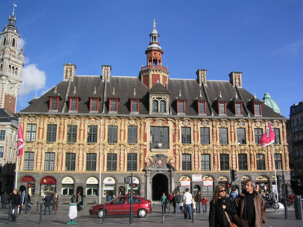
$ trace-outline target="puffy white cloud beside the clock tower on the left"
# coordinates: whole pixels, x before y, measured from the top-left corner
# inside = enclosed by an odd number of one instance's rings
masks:
[[[25,96],[32,91],[37,91],[45,87],[46,74],[39,70],[36,64],[29,64],[22,69],[22,83],[18,91],[18,96]]]

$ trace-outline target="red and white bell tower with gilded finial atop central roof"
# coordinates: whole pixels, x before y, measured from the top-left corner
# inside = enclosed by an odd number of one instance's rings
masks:
[[[168,83],[168,71],[167,67],[162,66],[162,48],[159,46],[159,34],[156,30],[156,21],[154,20],[154,29],[151,31],[150,43],[145,51],[147,55],[147,65],[141,67],[139,77],[142,83],[144,83],[149,89],[153,87],[157,81],[163,86]]]

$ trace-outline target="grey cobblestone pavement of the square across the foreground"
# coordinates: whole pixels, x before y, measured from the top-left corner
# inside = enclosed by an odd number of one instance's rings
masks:
[[[108,227],[117,226],[130,226],[129,215],[114,215],[107,216],[105,223],[102,224],[102,219],[97,218],[95,215],[89,215],[88,209],[90,206],[83,206],[83,211],[78,212],[78,216],[74,219],[77,222],[77,226],[86,227],[89,225],[104,225]],[[11,222],[12,226],[32,227],[33,225],[39,225],[40,221],[40,207],[39,214],[36,214],[37,206],[33,205],[32,209],[25,215],[25,210],[22,210],[22,214],[18,215],[17,222]],[[63,226],[69,222],[68,218],[68,205],[59,206],[59,212],[51,215],[42,215],[42,225],[44,226]],[[161,206],[158,203],[152,205],[152,213],[147,215],[145,218],[139,218],[137,215],[133,216],[134,227],[142,227],[142,225],[158,227],[158,226],[173,226],[173,227],[184,227],[190,225],[192,227],[208,227],[208,213],[201,213],[194,215],[194,222],[190,219],[184,219],[183,214],[174,214],[171,208],[171,213],[166,212],[164,217],[164,223],[162,222]],[[44,207],[43,212],[44,214]],[[0,210],[0,224],[8,223],[8,210]],[[268,209],[266,212],[266,223],[263,227],[298,227],[303,224],[302,220],[295,219],[294,207],[288,208],[288,220],[285,220],[285,210],[279,209]]]

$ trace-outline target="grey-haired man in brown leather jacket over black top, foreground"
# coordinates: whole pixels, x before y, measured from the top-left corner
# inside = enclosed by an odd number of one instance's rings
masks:
[[[255,182],[247,179],[245,189],[234,200],[237,209],[234,220],[239,227],[262,227],[262,223],[265,223],[265,203],[255,189]]]

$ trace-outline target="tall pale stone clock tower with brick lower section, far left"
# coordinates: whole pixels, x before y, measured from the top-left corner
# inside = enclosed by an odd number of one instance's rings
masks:
[[[0,33],[0,108],[13,113],[16,112],[17,93],[22,82],[24,58],[23,48],[18,50],[20,35],[15,23],[13,10],[12,16],[8,17],[8,25]]]

